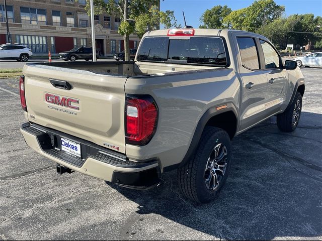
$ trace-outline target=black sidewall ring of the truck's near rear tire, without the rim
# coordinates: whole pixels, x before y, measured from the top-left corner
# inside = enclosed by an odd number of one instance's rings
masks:
[[[217,135],[213,135],[211,138],[209,138],[209,140],[206,142],[204,147],[201,148],[201,150],[200,150],[202,153],[201,153],[201,156],[199,159],[199,167],[198,167],[197,177],[196,177],[196,186],[197,186],[197,196],[201,202],[210,202],[211,200],[213,200],[216,197],[216,195],[220,192],[221,188],[224,186],[225,181],[228,176],[228,173],[229,173],[229,170],[230,170],[231,143],[230,143],[229,136],[223,130],[220,130],[220,131],[216,132],[215,134],[217,134]],[[215,190],[211,191],[211,190],[207,189],[206,184],[205,184],[205,169],[206,169],[206,165],[208,162],[208,158],[209,158],[212,150],[219,143],[225,145],[227,148],[227,156],[226,156],[227,166],[226,166],[226,170],[225,170],[225,175],[221,179],[219,186]]]

